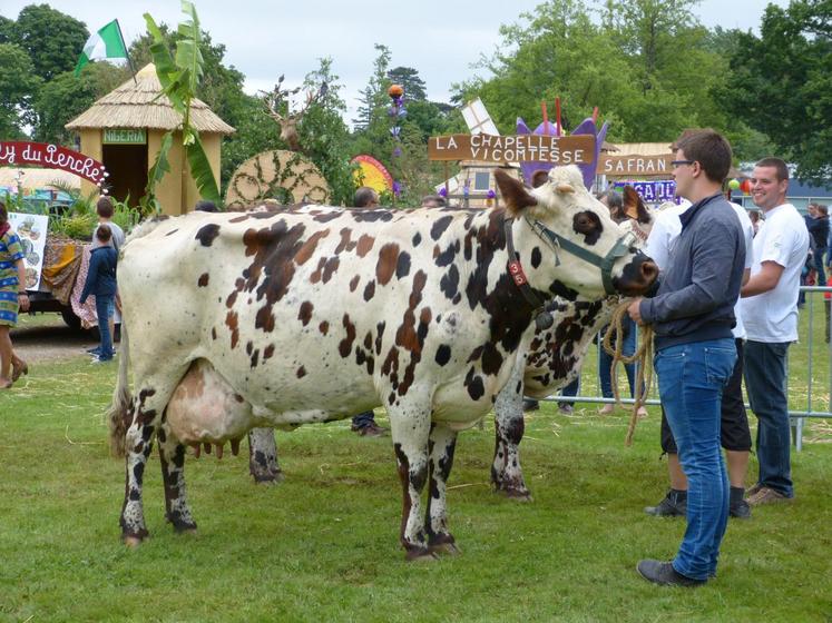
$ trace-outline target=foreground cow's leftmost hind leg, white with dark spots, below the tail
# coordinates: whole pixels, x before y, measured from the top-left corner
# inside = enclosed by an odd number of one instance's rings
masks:
[[[125,434],[125,502],[121,506],[121,538],[125,544],[135,546],[148,535],[145,526],[145,511],[141,503],[141,485],[145,477],[145,466],[153,449],[153,438],[156,432],[157,411],[151,398],[155,390],[143,389],[133,398],[127,416],[130,425]]]

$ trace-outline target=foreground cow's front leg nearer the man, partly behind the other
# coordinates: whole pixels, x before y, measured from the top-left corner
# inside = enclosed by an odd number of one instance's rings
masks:
[[[428,488],[428,548],[431,552],[458,554],[453,536],[448,532],[448,505],[446,491],[448,476],[453,466],[457,432],[443,424],[433,424],[430,429],[430,486]]]

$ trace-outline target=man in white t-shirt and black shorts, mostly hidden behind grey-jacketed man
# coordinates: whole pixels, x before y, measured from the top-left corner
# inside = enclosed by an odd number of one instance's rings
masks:
[[[647,238],[644,253],[653,258],[659,270],[664,270],[669,264],[674,241],[682,233],[679,216],[688,207],[691,207],[691,202],[686,200],[678,206],[664,207],[659,210],[653,224],[653,230]],[[734,212],[740,219],[745,240],[745,270],[743,273],[743,283],[745,283],[748,279],[752,264],[751,249],[754,239],[754,226],[742,206],[731,204],[731,207],[734,208]],[[736,347],[736,364],[722,394],[721,443],[727,458],[728,483],[731,485],[728,514],[732,517],[748,518],[751,508],[747,502],[743,500],[743,495],[745,494],[745,475],[748,471],[751,454],[751,432],[748,431],[748,416],[743,403],[743,340],[745,339],[745,329],[740,305],[740,299],[737,299],[734,306],[736,326],[732,329]],[[662,409],[660,442],[662,451],[667,454],[671,491],[656,506],[647,506],[644,511],[648,515],[657,517],[685,516],[687,512],[687,477],[679,464],[678,449],[664,409]]]

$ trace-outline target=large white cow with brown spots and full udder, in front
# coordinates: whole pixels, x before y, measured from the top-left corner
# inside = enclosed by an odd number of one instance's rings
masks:
[[[638,294],[657,274],[576,167],[534,190],[498,182],[505,209],[203,212],[140,228],[120,263],[128,340],[110,409],[125,542],[147,535],[154,439],[167,520],[193,531],[185,444],[381,403],[407,557],[456,551],[444,498],[457,432],[492,407],[538,309],[556,295]],[[205,426],[188,424],[197,415]]]

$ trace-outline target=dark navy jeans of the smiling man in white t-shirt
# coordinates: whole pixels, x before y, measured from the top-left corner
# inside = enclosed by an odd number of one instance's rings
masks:
[[[791,429],[785,389],[789,343],[745,343],[745,390],[757,416],[757,459],[761,485],[794,497]]]

